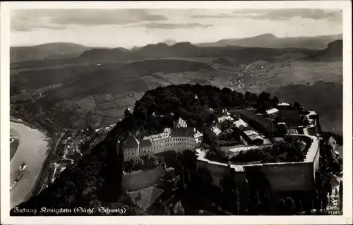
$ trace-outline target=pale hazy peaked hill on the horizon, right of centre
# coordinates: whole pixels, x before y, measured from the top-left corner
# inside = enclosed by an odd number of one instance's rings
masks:
[[[258,35],[240,39],[221,39],[217,42],[198,43],[198,47],[225,47],[236,45],[242,47],[263,48],[302,48],[302,49],[324,49],[328,43],[342,39],[341,35],[328,35],[316,37],[276,37],[273,34]]]

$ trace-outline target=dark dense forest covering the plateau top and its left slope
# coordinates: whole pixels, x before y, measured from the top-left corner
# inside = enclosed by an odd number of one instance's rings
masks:
[[[205,126],[212,123],[215,118],[214,113],[205,110],[209,108],[266,109],[272,107],[275,102],[278,102],[278,99],[264,92],[260,95],[250,92],[243,94],[228,88],[221,90],[210,85],[170,85],[150,90],[136,102],[133,114],[127,114],[126,118],[116,123],[107,138],[88,151],[89,154],[79,159],[76,166],[65,169],[59,178],[56,178],[54,183],[51,183],[42,193],[31,197],[18,207],[26,209],[40,209],[41,207],[112,208],[128,205],[126,214],[144,214],[145,212],[131,202],[124,192],[121,195],[123,162],[116,151],[118,141],[124,142],[130,133],[136,135],[155,133],[172,126],[179,117],[184,118],[189,126],[204,130]],[[171,112],[173,114],[170,114]],[[153,113],[167,116],[153,117]],[[148,164],[156,163],[154,157],[150,157],[149,162]],[[14,214],[13,209],[11,214]]]

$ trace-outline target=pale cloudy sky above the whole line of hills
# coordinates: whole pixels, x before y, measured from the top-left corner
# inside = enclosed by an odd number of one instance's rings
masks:
[[[143,46],[172,39],[214,42],[272,33],[277,37],[342,33],[333,9],[16,9],[11,46],[74,42],[89,47]]]

